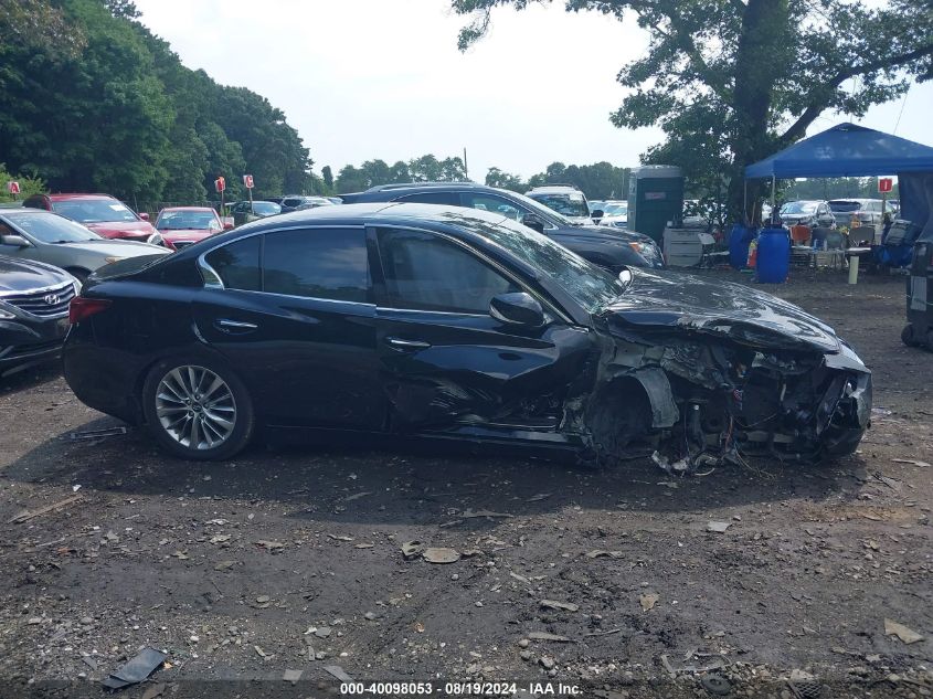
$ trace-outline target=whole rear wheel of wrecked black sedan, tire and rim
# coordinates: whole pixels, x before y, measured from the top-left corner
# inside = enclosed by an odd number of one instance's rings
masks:
[[[187,459],[230,458],[246,447],[255,427],[243,382],[200,358],[157,363],[142,386],[142,410],[159,445]]]

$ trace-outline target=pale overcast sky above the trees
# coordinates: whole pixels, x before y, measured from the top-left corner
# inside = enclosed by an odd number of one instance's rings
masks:
[[[491,33],[457,51],[466,18],[447,0],[136,0],[142,22],[182,63],[245,86],[283,109],[314,169],[467,149],[470,177],[489,167],[529,177],[550,162],[637,166],[658,129],[617,129],[615,82],[647,36],[634,22],[563,2],[494,12]],[[925,144],[933,84],[858,123]],[[820,131],[846,119],[825,114]]]

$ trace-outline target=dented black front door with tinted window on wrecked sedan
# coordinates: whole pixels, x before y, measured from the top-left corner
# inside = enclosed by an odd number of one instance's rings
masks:
[[[456,241],[401,229],[378,240],[377,343],[392,427],[555,430],[592,357],[590,332],[494,319],[492,296],[524,289]]]

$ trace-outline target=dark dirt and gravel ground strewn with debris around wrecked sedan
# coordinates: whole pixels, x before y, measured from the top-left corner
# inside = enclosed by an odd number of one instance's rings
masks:
[[[72,439],[119,423],[54,368],[8,379],[0,697],[104,696],[146,646],[168,661],[126,696],[325,696],[339,666],[434,696],[485,679],[616,699],[929,697],[933,354],[899,340],[903,288],[805,273],[768,289],[874,372],[860,452],[821,466],[671,479],[647,462],[365,445],[192,464],[136,430]],[[462,558],[406,560],[410,541]]]

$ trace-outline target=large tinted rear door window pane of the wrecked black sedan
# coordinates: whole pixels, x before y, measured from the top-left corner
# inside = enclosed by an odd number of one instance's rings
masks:
[[[269,294],[368,303],[364,229],[301,229],[267,233],[263,290]]]

